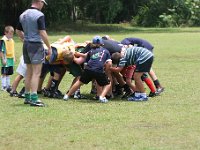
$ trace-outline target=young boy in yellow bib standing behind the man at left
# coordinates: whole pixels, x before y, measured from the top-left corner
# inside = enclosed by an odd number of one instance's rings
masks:
[[[15,62],[15,47],[14,47],[14,28],[6,26],[4,36],[0,41],[0,58],[1,58],[1,86],[2,90],[10,92],[10,75],[13,74]]]

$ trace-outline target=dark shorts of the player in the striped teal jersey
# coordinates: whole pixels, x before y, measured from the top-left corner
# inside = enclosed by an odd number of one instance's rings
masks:
[[[135,72],[150,72],[153,56],[142,64],[136,64]]]

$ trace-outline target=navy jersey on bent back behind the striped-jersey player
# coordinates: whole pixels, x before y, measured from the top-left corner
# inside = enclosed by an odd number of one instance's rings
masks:
[[[121,41],[123,45],[134,45],[138,47],[144,47],[150,51],[153,51],[153,45],[151,45],[148,41],[140,39],[140,38],[125,38]]]

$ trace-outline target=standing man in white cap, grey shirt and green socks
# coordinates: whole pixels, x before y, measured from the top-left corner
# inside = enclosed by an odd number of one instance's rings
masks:
[[[39,76],[45,58],[43,42],[48,47],[48,55],[52,53],[46,33],[45,17],[41,12],[44,4],[47,5],[45,0],[32,0],[31,8],[20,15],[16,29],[17,35],[24,42],[23,57],[24,63],[27,65],[24,104],[38,107],[45,106],[38,99],[37,94]]]

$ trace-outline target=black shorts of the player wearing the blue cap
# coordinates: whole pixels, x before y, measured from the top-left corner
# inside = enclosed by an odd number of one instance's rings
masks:
[[[99,73],[90,70],[84,70],[83,74],[81,75],[80,81],[84,84],[88,84],[93,79],[95,79],[100,86],[105,86],[110,83],[105,73]]]

